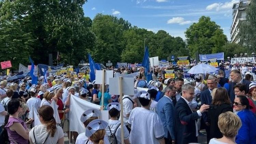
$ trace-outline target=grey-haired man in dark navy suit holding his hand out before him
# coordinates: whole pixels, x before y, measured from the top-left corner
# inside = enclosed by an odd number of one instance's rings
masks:
[[[176,144],[197,142],[197,119],[210,107],[209,105],[203,104],[199,110],[193,112],[188,103],[193,100],[194,94],[194,86],[190,84],[182,86],[182,97],[177,101],[174,109]]]

